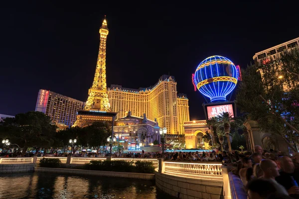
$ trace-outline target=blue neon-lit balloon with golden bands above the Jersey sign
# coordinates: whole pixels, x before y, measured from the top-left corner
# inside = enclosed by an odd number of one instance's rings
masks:
[[[194,86],[211,102],[226,101],[238,82],[237,68],[222,56],[211,56],[200,62],[193,76]]]

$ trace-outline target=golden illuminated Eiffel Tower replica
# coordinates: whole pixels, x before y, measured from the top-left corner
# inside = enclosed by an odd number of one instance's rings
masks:
[[[95,121],[112,121],[115,112],[110,112],[110,103],[106,84],[106,41],[109,33],[105,19],[100,28],[100,48],[97,68],[92,87],[88,90],[88,99],[83,110],[78,110],[77,120],[72,127],[84,127]]]

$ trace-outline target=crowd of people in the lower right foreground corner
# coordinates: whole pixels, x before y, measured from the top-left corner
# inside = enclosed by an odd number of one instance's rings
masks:
[[[233,172],[250,199],[299,199],[299,153],[291,158],[275,151],[265,153],[261,146],[255,146],[253,154],[237,158],[238,169]]]

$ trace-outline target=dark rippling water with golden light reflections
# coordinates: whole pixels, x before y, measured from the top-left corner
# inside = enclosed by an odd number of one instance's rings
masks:
[[[172,199],[147,180],[53,173],[0,176],[0,199]]]

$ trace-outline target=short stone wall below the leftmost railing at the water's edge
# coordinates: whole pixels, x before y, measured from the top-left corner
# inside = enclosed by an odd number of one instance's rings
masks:
[[[0,164],[0,174],[33,172],[35,164]]]

